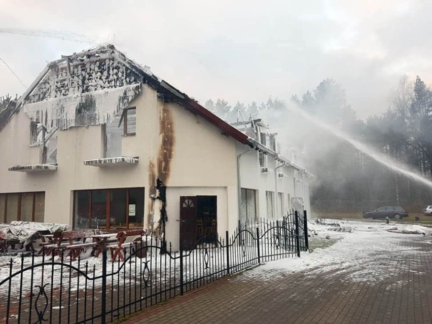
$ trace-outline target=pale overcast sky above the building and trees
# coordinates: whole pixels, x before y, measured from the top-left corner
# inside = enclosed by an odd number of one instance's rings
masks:
[[[402,76],[432,83],[430,12],[427,0],[0,0],[0,96],[61,55],[113,43],[201,103],[289,100],[332,78],[366,119]]]

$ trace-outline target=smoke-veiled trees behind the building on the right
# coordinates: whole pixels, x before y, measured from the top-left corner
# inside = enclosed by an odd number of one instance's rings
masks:
[[[420,212],[424,205],[432,204],[432,188],[377,163],[316,123],[295,116],[292,105],[430,179],[432,88],[420,77],[415,81],[402,78],[385,113],[365,121],[357,118],[345,90],[331,79],[300,97],[292,96],[290,102],[270,98],[260,104],[238,101],[230,106],[226,100],[217,99],[207,100],[205,106],[229,122],[263,117],[272,129],[276,127],[285,149],[300,148],[304,152],[302,163],[316,176],[311,184],[311,203],[316,211],[359,212],[402,205]]]

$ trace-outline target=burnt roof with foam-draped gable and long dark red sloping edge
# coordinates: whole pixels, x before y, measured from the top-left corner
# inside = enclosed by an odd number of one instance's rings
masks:
[[[266,151],[278,161],[308,173],[209,112],[194,99],[158,78],[149,67],[142,67],[127,58],[114,45],[62,56],[48,63],[24,94],[0,112],[0,131],[21,109],[33,122],[45,126],[49,138],[54,139],[56,136],[53,133],[58,129],[110,123],[141,91],[141,84],[154,88],[160,99],[181,104],[201,116],[217,126],[224,135],[251,148]]]

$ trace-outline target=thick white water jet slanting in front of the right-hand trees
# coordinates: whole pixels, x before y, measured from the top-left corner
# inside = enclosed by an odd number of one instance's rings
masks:
[[[293,106],[293,105],[289,105],[287,106],[287,109],[289,109],[290,111],[300,115],[301,117],[305,118],[306,120],[310,121],[311,123],[313,123],[314,125],[318,126],[319,128],[328,131],[329,133],[339,137],[340,139],[343,139],[347,142],[349,142],[354,148],[356,148],[358,151],[363,152],[364,154],[368,155],[369,157],[371,157],[372,159],[374,159],[376,162],[388,167],[389,169],[401,173],[407,177],[410,177],[412,179],[414,179],[415,181],[428,186],[429,188],[432,188],[432,182],[429,181],[428,179],[422,177],[421,175],[412,172],[410,170],[408,170],[408,168],[402,164],[399,163],[395,163],[394,161],[392,161],[391,159],[389,159],[387,156],[385,156],[382,153],[376,152],[373,149],[369,148],[367,145],[365,145],[362,142],[359,142],[353,138],[351,138],[347,133],[340,131],[338,129],[335,129],[334,127],[332,127],[329,124],[326,124],[325,122],[323,122],[322,120],[317,120],[315,119],[312,115],[304,112],[303,110]]]

